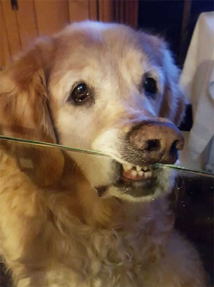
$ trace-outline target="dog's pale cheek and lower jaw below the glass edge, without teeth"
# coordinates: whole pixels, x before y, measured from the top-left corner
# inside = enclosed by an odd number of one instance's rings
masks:
[[[152,176],[147,179],[126,179],[118,160],[79,153],[68,154],[76,161],[90,186],[103,198],[114,196],[132,202],[143,202],[171,191],[174,173],[169,169],[155,168]]]

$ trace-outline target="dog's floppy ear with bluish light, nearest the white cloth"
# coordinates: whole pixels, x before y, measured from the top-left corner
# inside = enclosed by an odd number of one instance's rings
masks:
[[[160,117],[168,118],[179,126],[185,115],[186,100],[179,87],[180,70],[175,66],[170,51],[163,43],[163,70],[165,75],[165,88],[160,108]]]

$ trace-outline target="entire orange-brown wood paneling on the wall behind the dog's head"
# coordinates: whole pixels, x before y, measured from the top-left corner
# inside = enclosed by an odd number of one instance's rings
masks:
[[[52,35],[86,19],[137,26],[137,0],[9,0],[1,3],[1,67],[37,36]]]

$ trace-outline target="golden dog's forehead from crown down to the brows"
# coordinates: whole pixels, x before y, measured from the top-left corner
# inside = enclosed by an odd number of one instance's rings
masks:
[[[69,25],[55,40],[49,78],[52,89],[60,85],[68,93],[75,83],[83,81],[108,93],[124,93],[138,89],[147,72],[158,78],[159,39],[130,27],[80,22]]]

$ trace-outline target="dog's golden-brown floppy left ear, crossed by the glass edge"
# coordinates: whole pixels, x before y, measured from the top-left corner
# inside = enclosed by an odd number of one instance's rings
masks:
[[[39,40],[2,71],[1,134],[57,142],[46,89],[53,53],[51,39]],[[59,149],[15,143],[9,151],[20,169],[39,186],[53,185],[62,174],[64,157]]]

